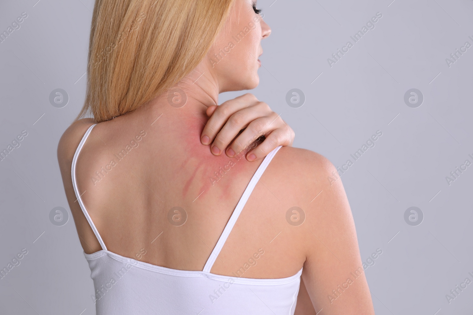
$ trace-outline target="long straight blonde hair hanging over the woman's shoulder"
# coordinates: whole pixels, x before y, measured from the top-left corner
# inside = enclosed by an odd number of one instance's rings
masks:
[[[77,119],[110,120],[165,93],[205,57],[234,1],[96,0]]]

